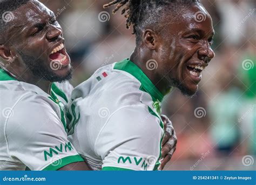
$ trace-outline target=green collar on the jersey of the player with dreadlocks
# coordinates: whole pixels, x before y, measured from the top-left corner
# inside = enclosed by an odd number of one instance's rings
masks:
[[[156,86],[152,83],[152,81],[149,79],[149,77],[146,76],[146,74],[131,60],[125,59],[119,63],[114,64],[114,69],[116,70],[122,70],[127,73],[130,73],[132,76],[134,76],[137,80],[142,83],[142,86],[140,87],[140,90],[145,91],[149,93],[153,99],[153,101],[162,101],[164,98],[164,95],[158,90]]]

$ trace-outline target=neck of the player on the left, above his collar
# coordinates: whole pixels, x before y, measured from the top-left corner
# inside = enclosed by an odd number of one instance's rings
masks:
[[[9,74],[16,78],[18,81],[24,81],[25,83],[36,85],[44,92],[48,94],[51,93],[52,83],[50,81],[46,81],[42,78],[34,76],[29,70],[20,70],[19,68],[12,70],[12,68],[7,68],[6,71],[8,71]]]

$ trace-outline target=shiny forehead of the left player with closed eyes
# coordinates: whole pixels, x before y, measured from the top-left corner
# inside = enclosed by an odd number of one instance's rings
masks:
[[[38,1],[31,1],[17,8],[14,15],[14,24],[29,24],[38,19],[48,19],[53,12]]]

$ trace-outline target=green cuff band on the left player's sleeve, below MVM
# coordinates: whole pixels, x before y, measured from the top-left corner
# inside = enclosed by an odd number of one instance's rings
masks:
[[[80,155],[71,155],[71,156],[67,156],[62,159],[59,159],[57,161],[54,161],[53,163],[51,163],[49,166],[47,166],[43,170],[44,171],[45,170],[58,170],[59,168],[69,165],[70,163],[82,162],[82,161],[84,161],[84,160]]]

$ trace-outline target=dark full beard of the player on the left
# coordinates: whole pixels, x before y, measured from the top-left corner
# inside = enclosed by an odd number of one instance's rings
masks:
[[[54,70],[51,69],[50,64],[49,66],[45,65],[42,59],[36,59],[34,57],[27,56],[22,52],[19,54],[21,54],[24,63],[36,77],[50,81],[51,83],[62,83],[63,81],[70,80],[72,78],[72,67],[70,68],[69,72],[65,74],[65,76],[59,76],[54,72]]]

